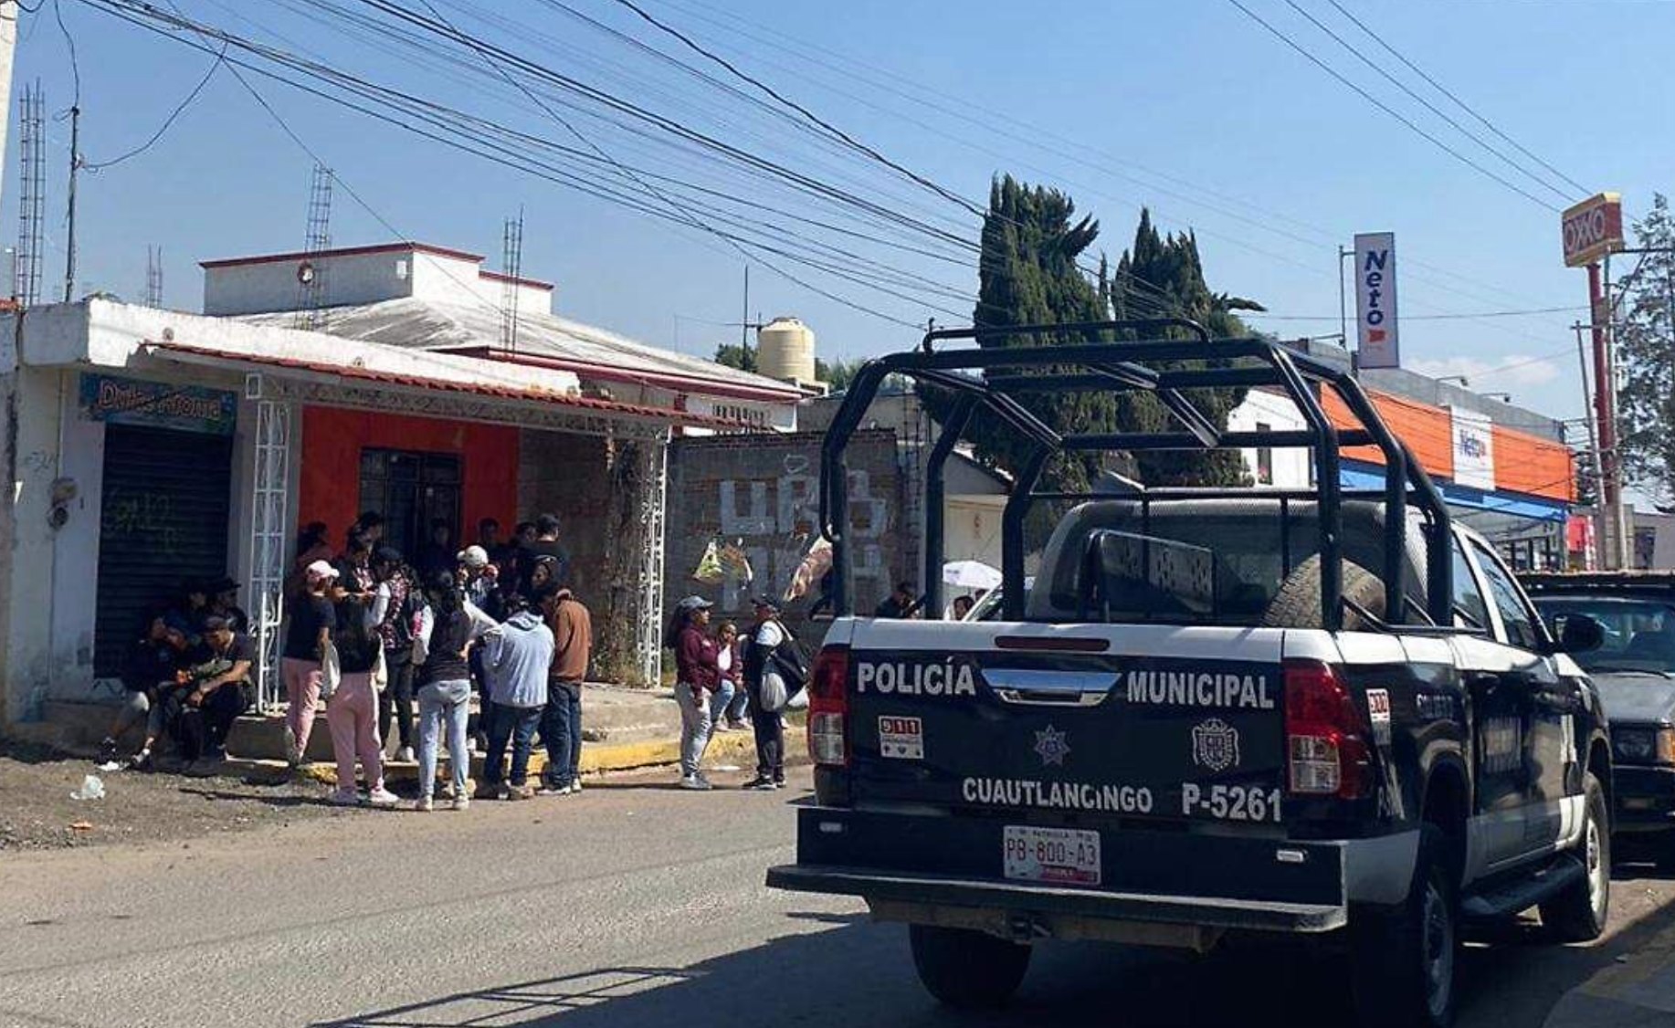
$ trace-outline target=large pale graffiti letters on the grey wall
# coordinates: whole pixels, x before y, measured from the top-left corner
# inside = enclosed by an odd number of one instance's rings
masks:
[[[720,479],[717,487],[720,534],[742,542],[755,573],[755,581],[745,581],[729,571],[722,583],[722,609],[737,611],[749,606],[752,591],[784,593],[819,527],[819,481],[807,455],[787,454],[774,479]],[[889,504],[873,496],[864,469],[849,472],[849,519],[856,589],[864,596],[863,583],[873,583],[883,594],[889,581],[883,551]]]

